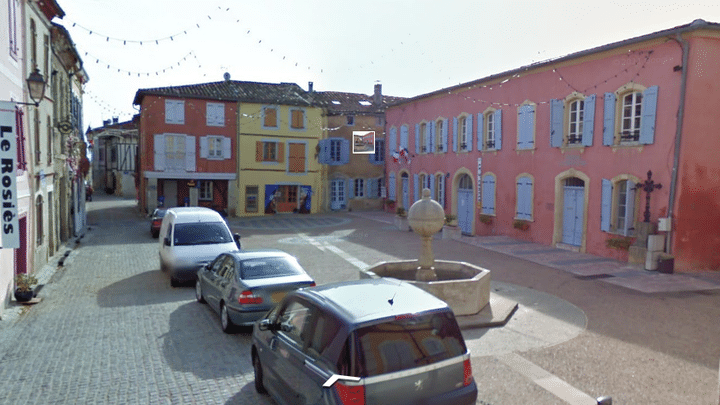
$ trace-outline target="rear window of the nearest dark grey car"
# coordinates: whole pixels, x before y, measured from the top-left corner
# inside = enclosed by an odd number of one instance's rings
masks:
[[[407,370],[460,356],[467,352],[450,311],[401,315],[356,332],[359,376]]]

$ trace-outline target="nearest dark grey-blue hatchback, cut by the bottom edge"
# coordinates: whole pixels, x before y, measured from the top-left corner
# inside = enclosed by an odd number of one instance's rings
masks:
[[[288,294],[255,323],[255,388],[280,404],[474,404],[448,305],[395,279]]]

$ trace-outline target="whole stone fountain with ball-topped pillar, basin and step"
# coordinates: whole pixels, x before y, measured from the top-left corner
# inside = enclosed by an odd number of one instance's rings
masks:
[[[494,326],[507,322],[517,303],[501,297],[491,299],[490,270],[466,262],[435,260],[432,239],[443,227],[445,212],[430,198],[430,189],[423,189],[422,199],[410,207],[408,221],[422,241],[420,258],[381,262],[361,270],[360,277],[392,277],[419,287],[445,301],[461,326]],[[461,318],[472,318],[472,321],[463,322]]]

